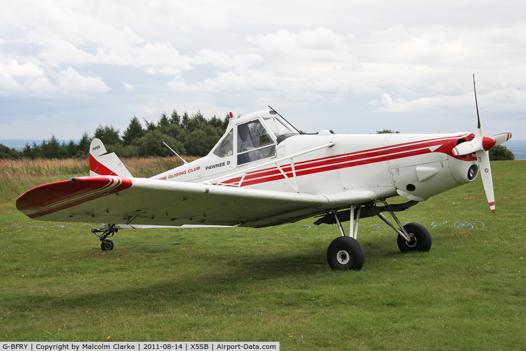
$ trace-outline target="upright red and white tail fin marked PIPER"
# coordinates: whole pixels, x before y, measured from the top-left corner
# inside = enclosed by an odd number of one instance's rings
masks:
[[[104,144],[97,138],[89,145],[89,175],[116,175],[133,177],[115,153],[107,154]]]

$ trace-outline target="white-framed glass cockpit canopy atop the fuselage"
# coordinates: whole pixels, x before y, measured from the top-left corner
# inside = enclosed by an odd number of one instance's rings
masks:
[[[219,157],[237,155],[237,165],[275,156],[276,145],[299,132],[273,110],[230,118],[227,133],[213,148]]]

